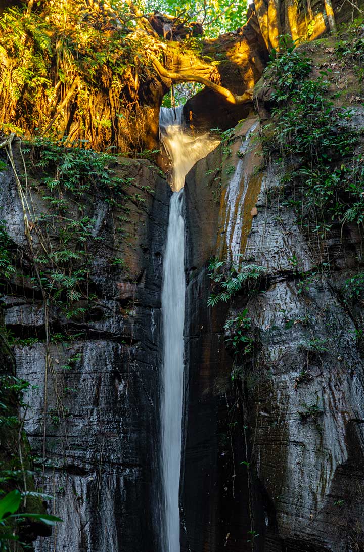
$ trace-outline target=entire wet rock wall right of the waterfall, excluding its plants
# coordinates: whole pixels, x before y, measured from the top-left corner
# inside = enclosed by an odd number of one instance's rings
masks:
[[[252,530],[264,552],[360,550],[362,309],[347,309],[341,289],[361,237],[356,226],[334,225],[324,242],[305,232],[282,205],[281,174],[260,167],[254,132],[243,146],[253,127],[246,121],[228,154],[219,146],[186,179],[182,550],[251,550]],[[207,307],[209,258],[239,254],[266,277],[230,307]],[[223,326],[245,308],[256,346],[231,383]]]

